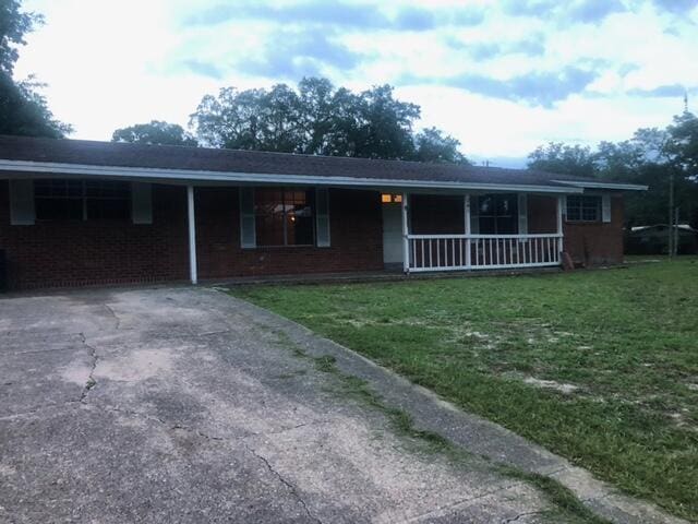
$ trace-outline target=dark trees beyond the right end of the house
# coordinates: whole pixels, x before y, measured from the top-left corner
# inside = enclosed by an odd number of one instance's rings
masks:
[[[622,142],[588,146],[550,143],[529,155],[530,168],[649,186],[628,194],[628,226],[669,222],[669,180],[674,175],[679,222],[698,227],[698,118],[684,111],[665,129],[638,129]]]

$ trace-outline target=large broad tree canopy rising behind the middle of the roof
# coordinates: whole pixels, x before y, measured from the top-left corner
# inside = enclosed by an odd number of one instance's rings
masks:
[[[206,95],[190,126],[202,145],[241,150],[466,163],[460,143],[432,128],[414,133],[416,104],[389,85],[361,93],[306,78],[293,90],[224,87]]]

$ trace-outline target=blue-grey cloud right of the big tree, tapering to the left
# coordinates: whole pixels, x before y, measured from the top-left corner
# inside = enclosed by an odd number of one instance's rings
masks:
[[[438,83],[491,98],[525,102],[531,106],[552,107],[569,95],[581,93],[599,74],[574,66],[559,71],[532,71],[509,79],[494,79],[462,73],[443,79],[404,78],[407,83]]]

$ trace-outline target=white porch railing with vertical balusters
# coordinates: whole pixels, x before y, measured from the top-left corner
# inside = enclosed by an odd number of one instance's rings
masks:
[[[561,264],[563,235],[407,235],[409,272]]]

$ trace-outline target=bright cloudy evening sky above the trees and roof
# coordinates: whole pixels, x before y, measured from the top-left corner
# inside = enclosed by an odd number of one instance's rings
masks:
[[[25,0],[15,69],[71,138],[186,126],[205,94],[320,75],[388,83],[476,162],[593,146],[698,112],[698,0]]]

